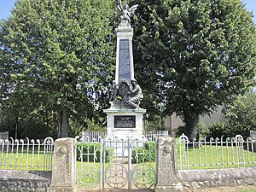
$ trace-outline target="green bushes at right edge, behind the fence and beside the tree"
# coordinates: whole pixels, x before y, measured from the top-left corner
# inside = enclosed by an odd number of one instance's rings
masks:
[[[220,138],[249,137],[250,131],[256,130],[256,92],[249,91],[244,96],[237,96],[233,102],[223,109],[220,122],[212,125],[202,125],[201,136]]]

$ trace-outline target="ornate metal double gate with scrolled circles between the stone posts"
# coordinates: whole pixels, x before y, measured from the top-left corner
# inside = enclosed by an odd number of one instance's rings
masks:
[[[152,189],[155,183],[155,143],[146,138],[76,138],[76,182],[81,190]]]

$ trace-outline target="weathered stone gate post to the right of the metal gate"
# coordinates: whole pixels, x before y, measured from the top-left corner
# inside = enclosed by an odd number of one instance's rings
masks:
[[[183,191],[177,174],[175,138],[158,138],[156,174],[155,192]]]

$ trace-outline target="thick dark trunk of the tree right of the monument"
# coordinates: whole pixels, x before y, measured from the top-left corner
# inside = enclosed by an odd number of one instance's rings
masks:
[[[189,137],[189,141],[193,141],[194,138],[198,140],[199,138],[199,115],[192,117],[189,114],[184,113],[184,123],[186,125],[186,136]]]

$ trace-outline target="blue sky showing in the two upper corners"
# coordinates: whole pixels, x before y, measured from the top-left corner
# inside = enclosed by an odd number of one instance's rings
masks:
[[[15,8],[16,0],[0,0],[0,20],[7,19],[11,14],[10,10]],[[253,11],[253,15],[256,15],[256,0],[242,0],[243,3],[246,3],[246,8],[249,11]],[[254,23],[256,24],[256,16],[253,18]]]

